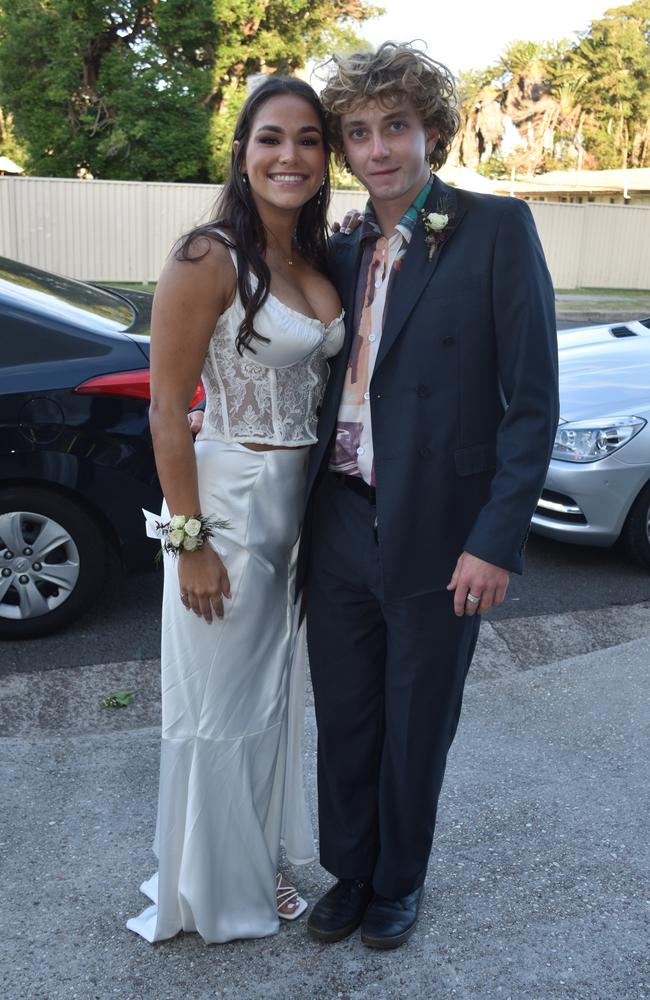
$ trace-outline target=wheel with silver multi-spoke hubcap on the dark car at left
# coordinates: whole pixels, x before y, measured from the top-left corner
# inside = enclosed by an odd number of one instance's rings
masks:
[[[73,500],[47,490],[0,491],[0,636],[29,639],[69,625],[106,576],[102,532]]]

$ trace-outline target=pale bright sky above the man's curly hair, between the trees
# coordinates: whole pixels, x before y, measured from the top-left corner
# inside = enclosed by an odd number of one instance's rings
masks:
[[[585,31],[611,7],[625,0],[375,0],[386,14],[360,33],[373,45],[423,39],[427,52],[454,73],[483,69],[495,62],[508,42],[559,41]]]

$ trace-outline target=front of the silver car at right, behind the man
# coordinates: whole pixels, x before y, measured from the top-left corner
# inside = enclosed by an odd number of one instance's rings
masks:
[[[650,319],[563,330],[558,346],[561,419],[533,531],[622,536],[650,568]]]

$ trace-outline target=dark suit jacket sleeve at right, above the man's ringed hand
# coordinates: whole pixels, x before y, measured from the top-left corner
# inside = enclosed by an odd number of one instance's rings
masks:
[[[553,285],[523,201],[508,199],[492,266],[493,324],[506,410],[497,432],[490,495],[465,549],[520,573],[559,419]]]

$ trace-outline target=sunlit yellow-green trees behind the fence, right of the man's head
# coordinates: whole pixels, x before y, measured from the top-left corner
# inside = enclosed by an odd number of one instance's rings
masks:
[[[498,174],[650,166],[650,0],[613,7],[575,42],[512,42],[463,74],[458,162]]]

